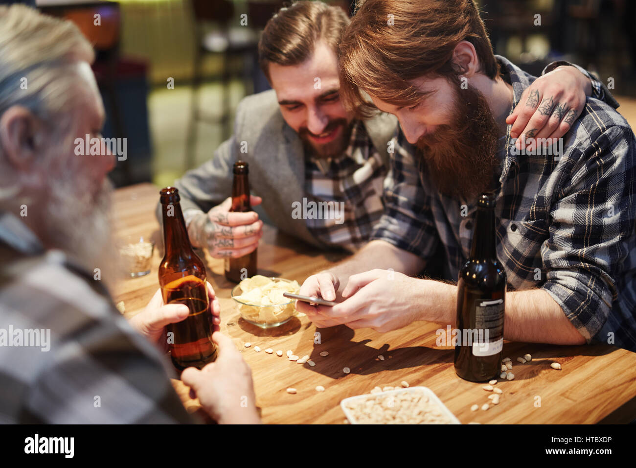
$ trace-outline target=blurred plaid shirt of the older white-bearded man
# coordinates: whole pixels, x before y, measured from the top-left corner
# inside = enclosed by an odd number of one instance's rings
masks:
[[[45,252],[10,213],[0,212],[0,254],[0,333],[15,343],[11,331],[50,330],[48,351],[0,342],[0,423],[193,422],[165,357],[92,274]]]

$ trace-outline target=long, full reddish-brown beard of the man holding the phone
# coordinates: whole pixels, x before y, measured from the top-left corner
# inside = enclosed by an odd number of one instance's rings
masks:
[[[417,147],[424,170],[439,192],[473,201],[494,188],[499,131],[483,94],[471,86],[460,89],[459,80],[456,84],[453,124],[440,125],[422,136]]]

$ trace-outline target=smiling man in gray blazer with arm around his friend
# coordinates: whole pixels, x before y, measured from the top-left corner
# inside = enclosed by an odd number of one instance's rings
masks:
[[[258,214],[229,213],[237,160],[249,163],[252,194],[260,195],[252,195],[252,206],[261,204],[278,229],[322,249],[354,252],[368,241],[384,210],[397,121],[388,114],[356,120],[340,102],[337,51],[348,24],[341,8],[319,1],[298,1],[268,22],[259,61],[273,90],[245,97],[232,138],[174,184],[193,245],[216,258],[241,257],[258,246]],[[533,86],[570,107],[591,92],[602,99],[600,83],[583,73],[560,67]],[[515,127],[536,121],[535,111],[520,113]]]

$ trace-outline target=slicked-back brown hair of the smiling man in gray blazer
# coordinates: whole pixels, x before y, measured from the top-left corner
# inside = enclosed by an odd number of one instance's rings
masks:
[[[298,65],[314,52],[321,39],[338,53],[338,44],[349,25],[347,13],[339,6],[321,1],[301,0],[284,7],[265,26],[258,43],[259,66],[270,80],[270,63]]]

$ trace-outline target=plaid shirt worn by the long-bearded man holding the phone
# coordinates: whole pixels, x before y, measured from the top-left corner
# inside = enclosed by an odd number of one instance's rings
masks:
[[[516,106],[535,78],[497,59]],[[632,129],[610,106],[588,98],[563,138],[560,157],[515,155],[509,141],[496,191],[497,256],[510,290],[542,288],[588,343],[636,351]],[[439,194],[421,162],[398,131],[387,208],[371,238],[422,259],[441,248],[446,274],[456,280],[469,255],[476,204]]]

